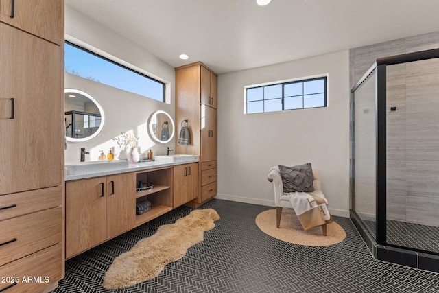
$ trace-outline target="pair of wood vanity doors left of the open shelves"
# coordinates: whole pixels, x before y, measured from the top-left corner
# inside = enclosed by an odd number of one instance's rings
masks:
[[[135,174],[66,183],[66,258],[134,228]]]

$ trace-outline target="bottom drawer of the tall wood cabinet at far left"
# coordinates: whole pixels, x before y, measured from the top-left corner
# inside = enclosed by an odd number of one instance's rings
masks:
[[[61,251],[61,244],[56,244],[0,266],[0,276],[5,278],[5,282],[7,281],[7,283],[0,282],[0,292],[34,293],[43,292],[49,286],[53,287],[56,281],[64,277]]]

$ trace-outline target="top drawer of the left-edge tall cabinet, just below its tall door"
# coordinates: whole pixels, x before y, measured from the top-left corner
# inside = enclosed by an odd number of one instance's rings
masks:
[[[62,186],[0,196],[0,221],[51,207],[59,207],[61,199]]]

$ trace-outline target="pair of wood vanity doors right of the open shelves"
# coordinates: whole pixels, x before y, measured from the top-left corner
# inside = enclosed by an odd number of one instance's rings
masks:
[[[198,197],[198,163],[174,167],[174,208]]]

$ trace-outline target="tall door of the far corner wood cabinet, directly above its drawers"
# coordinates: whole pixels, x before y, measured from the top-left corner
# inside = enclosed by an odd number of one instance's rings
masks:
[[[201,155],[200,161],[217,159],[217,110],[201,105]]]

